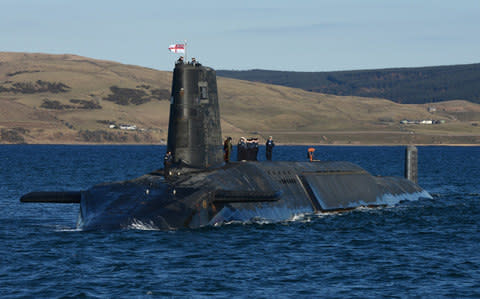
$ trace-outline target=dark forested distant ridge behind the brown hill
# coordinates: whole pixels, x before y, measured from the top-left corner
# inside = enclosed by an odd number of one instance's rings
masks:
[[[403,104],[480,103],[480,64],[342,72],[218,71],[219,76]]]

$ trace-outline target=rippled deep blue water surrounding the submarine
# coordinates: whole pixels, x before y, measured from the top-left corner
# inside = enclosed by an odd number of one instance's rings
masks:
[[[419,147],[431,200],[285,223],[76,231],[76,205],[21,204],[162,164],[162,146],[0,146],[2,298],[480,298],[480,147]],[[402,147],[318,147],[322,160],[403,173]],[[264,149],[260,150],[263,158]],[[305,160],[276,147],[274,160]]]

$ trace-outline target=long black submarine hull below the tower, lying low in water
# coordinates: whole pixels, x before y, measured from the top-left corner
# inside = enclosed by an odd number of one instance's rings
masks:
[[[187,173],[184,173],[186,171]],[[172,230],[429,198],[413,182],[374,177],[349,162],[236,162],[210,171],[176,169],[82,193],[78,228]]]

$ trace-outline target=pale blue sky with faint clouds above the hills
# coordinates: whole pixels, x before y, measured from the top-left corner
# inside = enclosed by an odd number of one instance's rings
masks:
[[[172,70],[336,71],[480,62],[479,0],[0,0],[0,51]]]

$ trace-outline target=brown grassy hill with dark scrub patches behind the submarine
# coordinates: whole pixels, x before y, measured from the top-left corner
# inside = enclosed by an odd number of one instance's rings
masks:
[[[170,85],[170,72],[149,68],[76,55],[0,53],[0,142],[164,143]],[[480,105],[465,101],[401,105],[221,77],[218,88],[223,133],[234,139],[480,143]],[[400,124],[403,119],[445,123]],[[121,124],[137,129],[118,129]]]

